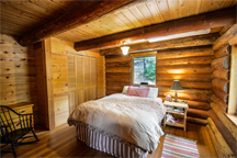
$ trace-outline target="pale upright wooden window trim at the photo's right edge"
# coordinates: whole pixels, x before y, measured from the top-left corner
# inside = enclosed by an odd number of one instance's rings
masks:
[[[228,113],[237,113],[237,45],[232,46]]]

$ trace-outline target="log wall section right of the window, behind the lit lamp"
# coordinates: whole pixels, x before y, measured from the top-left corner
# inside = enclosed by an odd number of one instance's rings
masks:
[[[170,90],[173,80],[180,80],[183,88],[177,91],[178,99],[188,101],[188,121],[195,122],[200,119],[204,124],[207,111],[211,109],[212,72],[214,59],[212,47],[187,47],[157,53],[157,87],[159,98],[165,100],[167,94],[174,98]]]

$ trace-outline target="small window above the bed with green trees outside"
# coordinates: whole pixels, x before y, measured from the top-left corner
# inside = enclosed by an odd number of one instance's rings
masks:
[[[156,56],[133,58],[133,83],[156,84]]]

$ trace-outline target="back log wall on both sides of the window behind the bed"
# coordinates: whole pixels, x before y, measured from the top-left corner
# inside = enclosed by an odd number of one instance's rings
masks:
[[[157,53],[157,81],[159,98],[167,94],[174,98],[170,90],[172,81],[179,79],[183,88],[178,91],[179,100],[188,101],[190,122],[206,124],[207,111],[212,102],[212,79],[214,59],[212,47],[187,47]],[[105,56],[106,94],[121,93],[123,86],[132,84],[132,57]],[[196,121],[196,119],[200,119]]]

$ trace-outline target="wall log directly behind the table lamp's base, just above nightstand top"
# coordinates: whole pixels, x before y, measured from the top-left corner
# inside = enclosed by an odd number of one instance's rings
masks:
[[[158,97],[162,98],[167,94],[170,94],[172,98],[174,98],[174,91],[173,92],[160,92],[158,93]],[[192,100],[192,101],[201,101],[201,102],[212,102],[211,95],[206,95],[203,93],[179,93],[177,91],[178,99],[184,99],[184,100]]]

